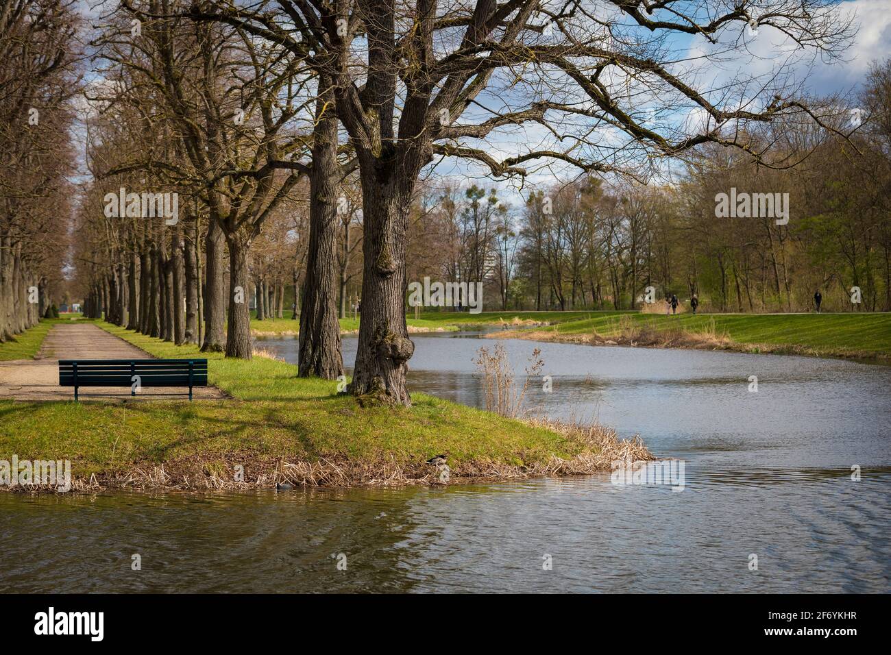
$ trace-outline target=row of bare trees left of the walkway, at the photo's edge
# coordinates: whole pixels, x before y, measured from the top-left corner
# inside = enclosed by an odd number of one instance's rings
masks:
[[[51,308],[67,257],[73,0],[0,5],[0,342]]]

